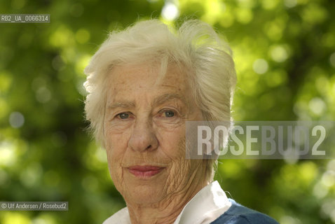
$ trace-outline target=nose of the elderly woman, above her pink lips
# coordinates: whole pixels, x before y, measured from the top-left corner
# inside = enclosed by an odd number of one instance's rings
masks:
[[[153,151],[158,147],[158,139],[149,120],[137,120],[128,142],[133,151]]]

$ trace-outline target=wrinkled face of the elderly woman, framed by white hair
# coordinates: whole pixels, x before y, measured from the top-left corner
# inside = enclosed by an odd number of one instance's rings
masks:
[[[109,172],[127,203],[152,204],[203,186],[205,163],[185,159],[185,121],[202,120],[185,74],[169,66],[116,66],[104,118]],[[198,189],[199,190],[199,189]]]

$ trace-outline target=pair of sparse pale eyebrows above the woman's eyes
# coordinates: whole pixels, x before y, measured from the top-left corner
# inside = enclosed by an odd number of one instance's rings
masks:
[[[160,97],[157,97],[156,99],[153,100],[153,105],[161,105],[173,99],[179,99],[185,105],[188,105],[185,97],[182,97],[179,94],[171,94],[171,93],[163,94]],[[126,102],[115,102],[114,104],[109,105],[108,109],[116,109],[116,108],[125,109],[132,107],[135,107],[135,102],[126,101]]]

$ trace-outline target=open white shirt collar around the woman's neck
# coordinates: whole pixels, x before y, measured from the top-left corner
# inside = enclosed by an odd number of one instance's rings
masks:
[[[231,207],[224,190],[214,181],[201,189],[189,201],[174,224],[208,224],[219,218]],[[107,218],[103,224],[131,224],[128,208],[125,207]]]

